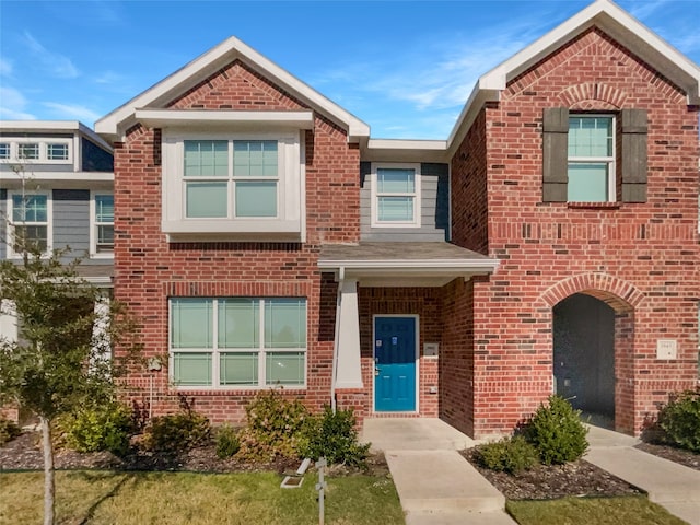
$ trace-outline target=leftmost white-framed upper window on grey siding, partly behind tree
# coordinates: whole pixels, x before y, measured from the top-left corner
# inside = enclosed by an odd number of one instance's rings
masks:
[[[52,201],[48,191],[8,191],[10,257],[19,257],[24,246],[52,249]]]

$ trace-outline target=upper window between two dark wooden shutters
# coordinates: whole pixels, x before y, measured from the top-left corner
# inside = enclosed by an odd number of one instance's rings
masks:
[[[569,202],[612,202],[615,183],[615,117],[569,117]]]

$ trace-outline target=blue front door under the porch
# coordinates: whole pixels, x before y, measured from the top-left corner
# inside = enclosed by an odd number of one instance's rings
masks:
[[[416,319],[374,318],[374,410],[416,410]]]

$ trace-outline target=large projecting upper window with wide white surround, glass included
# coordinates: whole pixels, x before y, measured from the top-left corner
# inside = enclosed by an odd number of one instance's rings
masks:
[[[300,240],[305,203],[300,144],[299,131],[165,132],[164,233],[196,240]]]

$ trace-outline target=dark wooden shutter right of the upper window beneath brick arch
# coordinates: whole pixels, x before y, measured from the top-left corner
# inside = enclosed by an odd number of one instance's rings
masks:
[[[622,109],[622,202],[646,202],[646,109]]]

